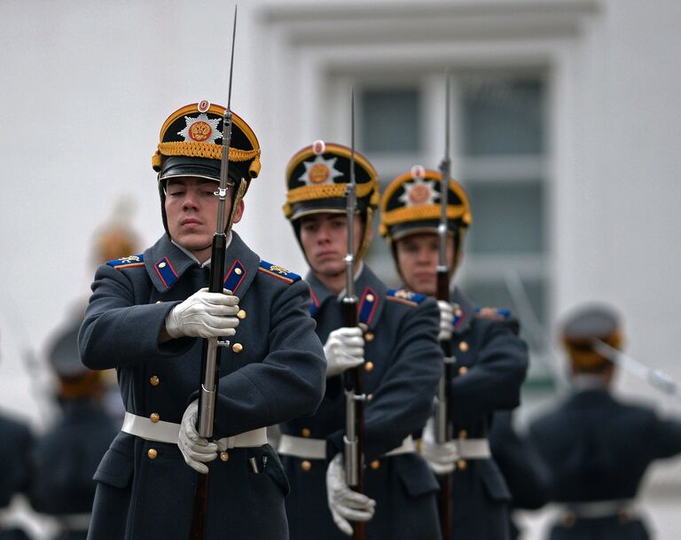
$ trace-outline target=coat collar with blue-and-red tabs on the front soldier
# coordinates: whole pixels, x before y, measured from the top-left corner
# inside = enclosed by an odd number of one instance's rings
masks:
[[[224,259],[224,285],[232,293],[243,294],[255,278],[260,257],[255,254],[235,231],[231,232],[231,243]],[[176,247],[168,235],[163,235],[145,251],[145,268],[153,286],[165,293],[175,286],[184,272],[198,267],[198,262]]]

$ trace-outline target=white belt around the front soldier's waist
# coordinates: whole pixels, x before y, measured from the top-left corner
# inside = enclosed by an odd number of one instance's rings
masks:
[[[180,434],[180,425],[173,422],[152,422],[144,416],[137,416],[131,412],[125,413],[123,427],[121,431],[141,437],[146,441],[168,442],[177,444],[177,437]],[[224,437],[217,442],[220,448],[247,448],[250,446],[262,446],[267,444],[267,428],[258,427],[246,433]]]

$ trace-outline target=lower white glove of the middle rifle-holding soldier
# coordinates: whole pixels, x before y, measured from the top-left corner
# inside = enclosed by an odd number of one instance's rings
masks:
[[[376,501],[348,488],[341,454],[336,454],[326,469],[326,497],[333,522],[348,536],[352,535],[348,520],[371,520],[376,510]]]

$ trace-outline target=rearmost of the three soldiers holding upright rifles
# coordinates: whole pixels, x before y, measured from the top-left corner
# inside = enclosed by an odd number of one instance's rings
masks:
[[[412,168],[389,184],[381,199],[380,232],[390,246],[404,286],[434,296],[439,257],[441,175]],[[450,179],[447,191],[447,266],[450,279],[460,264],[472,221],[463,188]],[[476,311],[457,287],[451,301],[438,301],[443,325],[451,325],[454,354],[448,411],[456,442],[435,442],[432,422],[423,434],[423,456],[435,473],[453,474],[451,537],[497,540],[508,537],[510,493],[489,451],[489,423],[495,411],[520,403],[528,367],[525,343],[513,321],[497,309]]]

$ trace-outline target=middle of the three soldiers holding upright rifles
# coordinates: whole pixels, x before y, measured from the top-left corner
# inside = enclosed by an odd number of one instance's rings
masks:
[[[291,538],[340,539],[352,533],[350,521],[369,520],[369,538],[436,540],[437,481],[415,451],[411,434],[427,420],[442,370],[437,308],[418,294],[388,290],[362,262],[379,194],[372,164],[355,153],[361,328],[343,327],[339,295],[345,287],[350,155],[345,146],[317,141],[296,153],[286,168],[284,210],[309,263],[311,313],[327,359],[326,394],[317,414],[281,426],[279,453],[291,481],[286,500]],[[361,366],[368,400],[364,495],[348,489],[340,456],[345,427],[340,375],[356,366]]]

